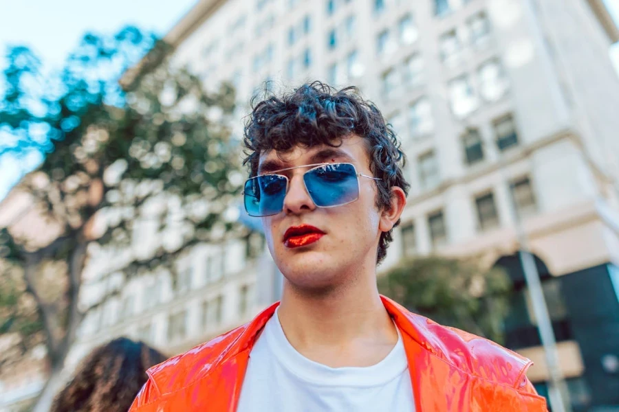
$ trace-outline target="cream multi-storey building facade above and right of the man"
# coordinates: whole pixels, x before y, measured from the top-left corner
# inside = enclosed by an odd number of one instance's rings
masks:
[[[599,0],[202,0],[166,36],[179,64],[252,96],[354,84],[393,125],[402,255],[478,255],[514,281],[507,345],[547,369],[517,227],[536,257],[576,410],[619,405],[619,32]],[[259,281],[260,283],[260,281]]]

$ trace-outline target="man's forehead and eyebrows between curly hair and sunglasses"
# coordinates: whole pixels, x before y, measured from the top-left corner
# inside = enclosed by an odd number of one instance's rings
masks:
[[[311,148],[297,145],[285,152],[278,150],[263,152],[259,158],[258,174],[298,165],[329,163],[331,161],[353,163],[364,170],[369,168],[369,155],[365,139],[351,135],[343,137],[341,144],[336,143],[338,144],[336,147],[327,144],[318,144]]]

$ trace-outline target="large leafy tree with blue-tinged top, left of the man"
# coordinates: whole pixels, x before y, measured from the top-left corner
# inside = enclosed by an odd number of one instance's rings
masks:
[[[241,230],[226,214],[242,183],[239,144],[227,126],[234,91],[228,84],[205,91],[168,55],[135,27],[86,34],[50,79],[30,50],[9,50],[0,155],[45,155],[16,190],[32,196],[59,234],[41,245],[10,227],[0,233],[0,341],[14,343],[0,367],[43,343],[51,380],[60,373],[85,314],[120,291],[82,307],[89,254],[131,249],[140,222],[155,221],[165,236],[150,239],[149,253],[125,254],[124,280],[155,268],[175,275],[188,248]],[[120,89],[120,74],[138,60],[140,76]],[[46,387],[39,405],[53,394]]]

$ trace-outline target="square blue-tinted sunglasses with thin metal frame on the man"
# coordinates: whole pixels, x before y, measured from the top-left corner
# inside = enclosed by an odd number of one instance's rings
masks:
[[[336,207],[356,201],[359,198],[359,176],[380,181],[358,173],[351,163],[316,163],[276,170],[245,182],[243,201],[247,214],[258,218],[279,214],[283,211],[290,180],[276,173],[312,166],[315,167],[303,174],[303,183],[316,207]]]

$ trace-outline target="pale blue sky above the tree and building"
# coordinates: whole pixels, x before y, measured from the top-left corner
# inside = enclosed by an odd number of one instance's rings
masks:
[[[619,21],[619,0],[604,0]],[[62,66],[87,31],[113,33],[127,24],[163,35],[197,0],[0,0],[0,53],[8,45],[28,45],[47,70]],[[619,71],[619,44],[611,52]],[[4,62],[0,60],[0,68]],[[0,139],[2,136],[0,135]],[[0,159],[0,200],[22,171],[41,161],[37,155]]]

